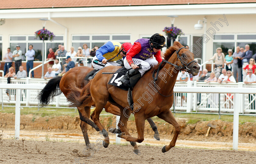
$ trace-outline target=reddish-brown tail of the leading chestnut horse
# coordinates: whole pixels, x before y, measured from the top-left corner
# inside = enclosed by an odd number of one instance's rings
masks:
[[[75,83],[69,85],[70,92],[67,95],[67,100],[71,102],[69,107],[77,107],[77,106],[91,106],[94,105],[94,102],[91,98],[91,81],[84,86],[84,88],[78,88]]]

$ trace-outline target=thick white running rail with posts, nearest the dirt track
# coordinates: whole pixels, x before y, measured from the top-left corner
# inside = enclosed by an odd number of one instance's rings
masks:
[[[192,84],[192,82],[188,82],[188,84]],[[238,84],[238,85],[241,85]],[[43,89],[44,84],[1,84],[0,89],[16,89],[16,108],[15,108],[15,139],[19,139],[20,137],[20,99],[21,99],[21,91],[23,89],[30,90]],[[234,121],[233,121],[233,149],[238,149],[238,126],[239,126],[239,112],[241,108],[241,94],[254,94],[256,92],[256,88],[249,87],[193,87],[193,86],[175,86],[174,92],[179,93],[233,93],[234,99]],[[189,105],[187,105],[189,106]]]

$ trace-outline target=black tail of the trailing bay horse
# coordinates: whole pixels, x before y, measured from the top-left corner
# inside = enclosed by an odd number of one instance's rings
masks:
[[[62,92],[59,88],[59,83],[62,76],[56,76],[49,80],[44,88],[39,92],[37,99],[41,107],[46,106],[54,96],[60,95]]]

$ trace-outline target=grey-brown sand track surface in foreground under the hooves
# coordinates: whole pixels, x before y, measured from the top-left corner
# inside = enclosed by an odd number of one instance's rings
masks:
[[[82,164],[82,163],[168,163],[168,164],[254,164],[256,153],[235,150],[172,148],[162,153],[160,146],[139,146],[141,155],[132,153],[130,145],[109,145],[98,148],[93,156],[84,155],[85,144],[74,142],[46,142],[1,140],[0,163],[4,164]],[[91,158],[88,158],[92,156]]]

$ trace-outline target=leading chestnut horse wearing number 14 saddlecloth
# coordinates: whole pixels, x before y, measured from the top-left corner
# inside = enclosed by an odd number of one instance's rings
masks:
[[[194,60],[194,54],[181,45],[180,42],[174,42],[173,46],[166,50],[164,59],[163,62],[145,72],[133,88],[132,97],[134,103],[132,106],[134,108],[133,114],[137,128],[137,138],[132,137],[126,129],[127,113],[131,110],[127,102],[127,91],[109,85],[108,81],[112,75],[102,74],[102,72],[116,72],[120,67],[108,66],[101,69],[95,75],[93,81],[83,89],[72,86],[73,94],[69,94],[67,99],[74,106],[81,104],[91,105],[95,102],[95,110],[91,114],[91,119],[103,132],[104,142],[106,142],[104,144],[109,143],[107,140],[108,133],[101,125],[99,115],[108,101],[120,108],[120,120],[124,125],[119,126],[122,133],[118,136],[126,139],[126,141],[142,142],[144,140],[145,119],[158,116],[175,127],[172,141],[162,148],[162,152],[167,152],[175,146],[180,133],[180,125],[170,110],[173,104],[173,88],[178,72],[179,70],[184,70],[195,76],[198,74],[200,67]],[[157,75],[155,76],[156,70]]]

